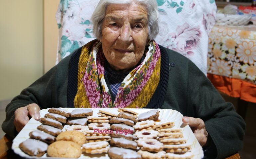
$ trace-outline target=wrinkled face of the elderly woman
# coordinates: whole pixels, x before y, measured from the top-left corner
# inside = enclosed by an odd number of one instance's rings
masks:
[[[140,62],[148,40],[148,12],[139,4],[112,4],[102,24],[103,53],[115,70],[130,70]]]

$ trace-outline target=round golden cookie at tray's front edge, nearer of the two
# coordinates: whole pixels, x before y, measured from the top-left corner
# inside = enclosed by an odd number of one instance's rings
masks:
[[[72,141],[56,141],[48,146],[50,157],[78,158],[82,154],[80,146]]]

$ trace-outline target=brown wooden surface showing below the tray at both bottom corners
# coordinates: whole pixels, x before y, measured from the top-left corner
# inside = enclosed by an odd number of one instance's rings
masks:
[[[13,153],[12,149],[12,139],[5,135],[0,140],[0,159],[7,159],[8,156],[12,156],[11,153]],[[13,157],[12,157],[13,158]],[[240,159],[240,156],[238,153],[226,158],[226,159]]]

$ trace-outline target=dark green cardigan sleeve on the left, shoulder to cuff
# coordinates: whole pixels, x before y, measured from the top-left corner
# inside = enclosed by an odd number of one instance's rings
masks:
[[[66,107],[66,76],[69,59],[66,57],[45,75],[22,90],[20,95],[13,98],[11,103],[6,106],[6,119],[2,124],[2,129],[7,135],[14,138],[18,134],[13,121],[14,112],[20,107],[31,103],[38,104],[41,109]]]

